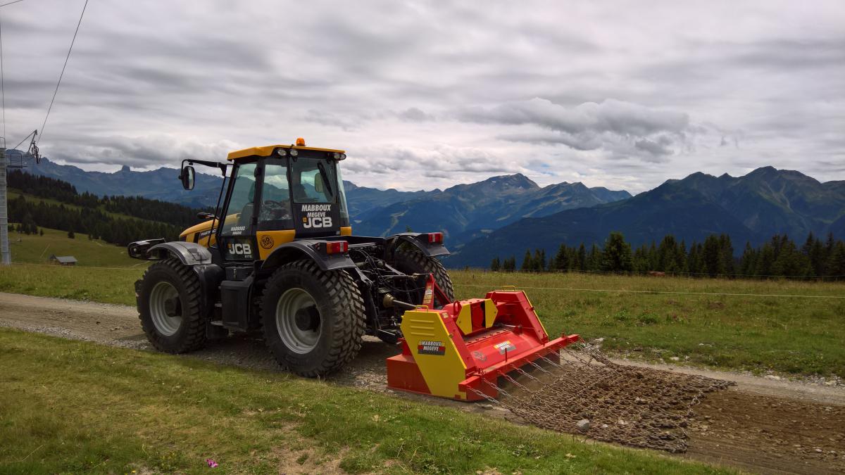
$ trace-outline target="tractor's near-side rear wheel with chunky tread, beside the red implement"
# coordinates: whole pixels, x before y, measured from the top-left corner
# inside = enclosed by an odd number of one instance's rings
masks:
[[[363,298],[345,270],[297,260],[275,270],[261,300],[264,341],[279,364],[308,378],[340,369],[361,349]]]

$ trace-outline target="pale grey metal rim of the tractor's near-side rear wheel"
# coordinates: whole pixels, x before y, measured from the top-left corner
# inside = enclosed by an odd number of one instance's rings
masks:
[[[311,294],[301,288],[281,294],[275,306],[275,327],[292,352],[305,354],[313,350],[323,330],[323,319]]]

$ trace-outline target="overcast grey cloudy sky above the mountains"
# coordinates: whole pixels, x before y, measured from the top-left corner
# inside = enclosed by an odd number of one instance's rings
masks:
[[[0,8],[9,147],[41,128],[83,3]],[[43,134],[103,171],[302,136],[378,188],[842,180],[845,2],[90,0]]]

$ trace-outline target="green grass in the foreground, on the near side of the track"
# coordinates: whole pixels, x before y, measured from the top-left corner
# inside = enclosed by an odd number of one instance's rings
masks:
[[[290,374],[0,329],[0,472],[710,473]],[[725,471],[727,472],[727,471]]]

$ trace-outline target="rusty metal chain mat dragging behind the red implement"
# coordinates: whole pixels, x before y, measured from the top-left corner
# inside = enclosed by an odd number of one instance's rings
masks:
[[[498,400],[473,391],[528,423],[673,453],[687,450],[685,428],[695,417],[692,408],[706,393],[733,385],[613,363],[598,347],[586,343],[565,348],[559,361],[540,358],[499,378],[499,385],[485,381],[499,391]],[[589,421],[586,429],[578,425],[583,419]]]

